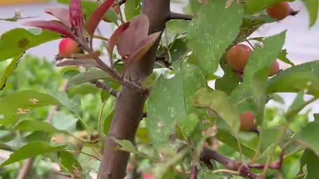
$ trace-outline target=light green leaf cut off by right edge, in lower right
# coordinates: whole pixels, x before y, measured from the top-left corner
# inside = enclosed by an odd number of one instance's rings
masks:
[[[319,120],[314,120],[307,124],[305,128],[298,133],[294,139],[306,146],[307,148],[314,151],[314,153],[319,156]]]

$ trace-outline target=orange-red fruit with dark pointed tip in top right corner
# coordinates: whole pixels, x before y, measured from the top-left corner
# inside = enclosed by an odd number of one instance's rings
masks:
[[[299,11],[292,9],[288,2],[279,2],[266,9],[267,15],[276,20],[283,20],[288,15],[295,16]]]

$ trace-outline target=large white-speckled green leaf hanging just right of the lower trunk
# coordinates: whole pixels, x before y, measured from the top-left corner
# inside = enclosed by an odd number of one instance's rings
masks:
[[[175,76],[169,80],[160,77],[148,101],[146,122],[157,149],[168,142],[177,120],[190,119],[188,114],[198,111],[191,98],[198,88],[207,86],[198,67],[181,60],[173,68]]]

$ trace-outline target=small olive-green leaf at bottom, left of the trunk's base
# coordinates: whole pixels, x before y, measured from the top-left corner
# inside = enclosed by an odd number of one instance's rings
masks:
[[[68,151],[59,152],[61,163],[63,167],[65,167],[70,174],[74,174],[74,170],[82,171],[82,167],[80,163],[76,160],[74,155]]]

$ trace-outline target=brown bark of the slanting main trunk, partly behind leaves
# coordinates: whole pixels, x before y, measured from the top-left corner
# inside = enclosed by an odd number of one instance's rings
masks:
[[[150,19],[149,34],[163,31],[169,18],[170,0],[143,0],[143,13]],[[139,85],[152,74],[160,38],[142,59],[130,68],[131,80]],[[139,123],[144,115],[143,109],[147,94],[123,87],[117,100],[115,115],[109,137],[103,152],[98,179],[123,179],[130,153],[114,150],[117,144],[112,138],[134,142]]]

